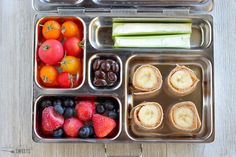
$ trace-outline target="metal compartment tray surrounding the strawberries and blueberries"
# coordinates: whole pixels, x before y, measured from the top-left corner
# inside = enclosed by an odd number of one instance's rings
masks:
[[[40,103],[45,100],[49,99],[51,101],[56,100],[58,98],[75,98],[76,101],[82,101],[82,100],[95,100],[96,101],[104,101],[104,100],[111,100],[115,102],[117,105],[116,107],[119,108],[119,120],[117,122],[117,130],[114,134],[110,135],[110,137],[106,138],[69,138],[69,137],[62,137],[62,138],[53,138],[51,136],[45,135],[42,133],[41,130],[41,116],[43,108],[40,106]],[[41,95],[35,100],[34,103],[34,117],[33,117],[33,140],[36,142],[109,142],[115,140],[121,133],[122,130],[122,105],[120,103],[120,100],[117,97],[114,96],[105,96],[105,95]]]

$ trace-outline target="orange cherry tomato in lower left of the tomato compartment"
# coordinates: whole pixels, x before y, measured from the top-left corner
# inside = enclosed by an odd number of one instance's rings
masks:
[[[56,68],[50,65],[45,65],[40,69],[39,76],[43,83],[52,84],[57,79],[58,72]]]

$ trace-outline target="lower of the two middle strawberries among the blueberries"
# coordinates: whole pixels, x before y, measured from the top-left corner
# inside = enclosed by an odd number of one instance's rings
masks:
[[[67,136],[76,137],[83,126],[84,124],[79,119],[72,117],[65,120],[63,129]]]

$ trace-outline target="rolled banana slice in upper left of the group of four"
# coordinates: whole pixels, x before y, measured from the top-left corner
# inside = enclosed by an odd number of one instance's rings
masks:
[[[152,65],[140,66],[133,75],[132,84],[135,89],[143,92],[157,91],[162,86],[162,75]]]

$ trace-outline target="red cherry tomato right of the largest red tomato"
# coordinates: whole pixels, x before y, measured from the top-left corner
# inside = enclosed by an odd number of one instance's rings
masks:
[[[68,56],[82,56],[83,42],[78,37],[70,37],[64,43],[64,50]]]

